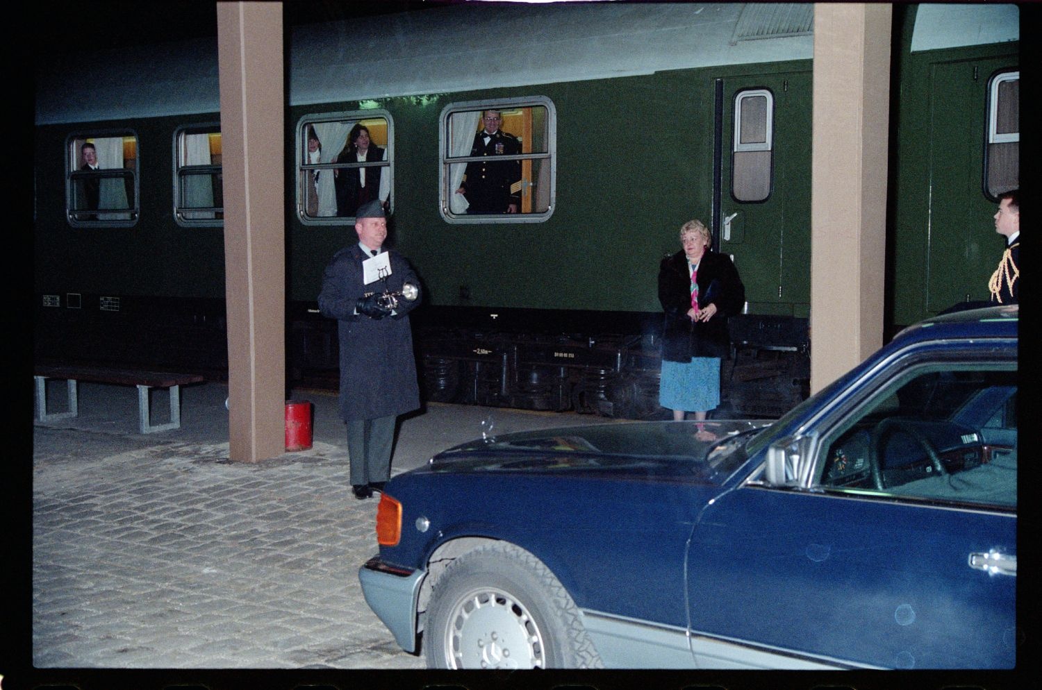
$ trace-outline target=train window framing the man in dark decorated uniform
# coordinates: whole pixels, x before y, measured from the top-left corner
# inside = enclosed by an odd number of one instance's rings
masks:
[[[446,221],[534,223],[553,212],[556,110],[548,98],[450,103],[440,150]]]

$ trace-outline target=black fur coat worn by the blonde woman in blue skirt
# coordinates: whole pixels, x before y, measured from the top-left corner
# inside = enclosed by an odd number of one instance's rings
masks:
[[[691,274],[684,251],[667,256],[659,266],[659,302],[666,312],[662,358],[690,362],[692,357],[730,355],[727,317],[741,313],[745,286],[730,257],[706,250],[698,263],[698,308],[715,304],[717,312],[706,322],[688,318],[691,308]]]

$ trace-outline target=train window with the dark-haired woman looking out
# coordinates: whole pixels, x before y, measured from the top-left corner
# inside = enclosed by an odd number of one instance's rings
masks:
[[[313,114],[297,124],[297,212],[342,225],[373,200],[394,201],[394,123],[383,110]]]

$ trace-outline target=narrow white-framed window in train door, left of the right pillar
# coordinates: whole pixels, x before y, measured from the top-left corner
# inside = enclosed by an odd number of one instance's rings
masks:
[[[735,96],[731,196],[736,201],[764,201],[771,194],[774,148],[774,96],[764,88]]]

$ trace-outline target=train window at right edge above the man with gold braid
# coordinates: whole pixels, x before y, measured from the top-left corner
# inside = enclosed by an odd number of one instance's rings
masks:
[[[985,154],[987,196],[1020,186],[1020,72],[1002,72],[988,90],[988,147]]]

